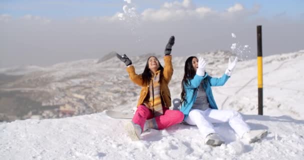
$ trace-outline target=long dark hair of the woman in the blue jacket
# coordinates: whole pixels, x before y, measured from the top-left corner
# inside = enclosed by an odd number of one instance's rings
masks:
[[[193,68],[192,65],[192,59],[196,58],[196,56],[190,56],[187,58],[186,62],[184,63],[184,74],[183,78],[181,80],[181,93],[180,93],[180,104],[183,102],[187,103],[187,99],[185,99],[186,92],[184,90],[183,84],[189,84],[189,79],[193,79],[194,75],[196,74],[196,71]]]

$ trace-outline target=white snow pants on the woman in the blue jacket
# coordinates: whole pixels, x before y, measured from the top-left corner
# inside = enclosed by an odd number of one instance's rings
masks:
[[[229,125],[239,137],[250,130],[249,125],[244,122],[241,114],[233,110],[208,108],[202,111],[191,109],[185,122],[190,125],[196,125],[203,137],[206,137],[210,133],[215,133],[212,123],[229,122]]]

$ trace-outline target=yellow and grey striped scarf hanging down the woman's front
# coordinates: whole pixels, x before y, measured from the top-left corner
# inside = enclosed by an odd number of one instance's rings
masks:
[[[159,116],[163,114],[162,111],[162,104],[161,104],[161,97],[160,97],[160,83],[159,83],[159,77],[160,77],[160,70],[156,71],[153,75],[150,85],[149,85],[149,101],[148,101],[148,107],[153,107],[153,113],[154,116]],[[145,103],[146,104],[146,103]]]

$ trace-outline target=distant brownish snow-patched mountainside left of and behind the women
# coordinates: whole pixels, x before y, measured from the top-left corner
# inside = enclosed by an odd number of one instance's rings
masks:
[[[227,61],[229,52],[201,53],[210,59],[210,72]],[[137,72],[142,72],[147,57],[130,57]],[[174,57],[176,78],[170,86],[179,85],[186,57]],[[221,70],[220,70],[221,71]],[[84,59],[49,67],[20,66],[0,69],[0,121],[26,118],[57,118],[103,111],[131,109],[136,105],[139,87],[128,79],[125,65],[110,52],[100,59]],[[177,97],[177,95],[176,95]],[[124,104],[123,107],[117,107]]]

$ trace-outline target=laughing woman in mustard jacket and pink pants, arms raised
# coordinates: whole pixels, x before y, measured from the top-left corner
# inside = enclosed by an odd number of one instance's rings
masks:
[[[169,110],[171,106],[168,83],[173,74],[171,63],[171,48],[174,36],[171,36],[164,51],[164,67],[155,56],[147,59],[141,74],[135,73],[132,61],[123,54],[116,54],[125,63],[129,78],[141,86],[137,110],[125,124],[125,129],[132,140],[139,140],[140,134],[147,128],[164,129],[183,120],[183,113],[178,110]]]

